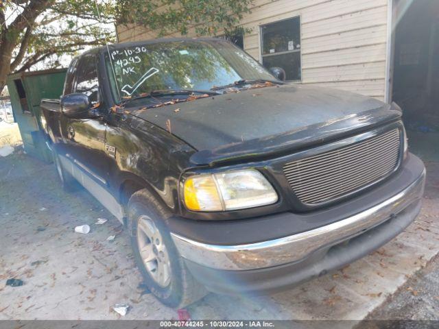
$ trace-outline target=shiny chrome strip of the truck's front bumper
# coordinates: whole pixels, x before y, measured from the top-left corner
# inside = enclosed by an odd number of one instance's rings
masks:
[[[323,247],[336,245],[374,228],[423,195],[425,169],[403,191],[357,215],[280,239],[243,245],[210,245],[171,233],[180,255],[193,263],[222,270],[249,270],[294,263]]]

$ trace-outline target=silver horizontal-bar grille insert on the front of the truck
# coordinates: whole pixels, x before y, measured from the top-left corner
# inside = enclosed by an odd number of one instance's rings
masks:
[[[329,202],[377,182],[394,171],[399,129],[316,156],[288,162],[285,177],[303,204]]]

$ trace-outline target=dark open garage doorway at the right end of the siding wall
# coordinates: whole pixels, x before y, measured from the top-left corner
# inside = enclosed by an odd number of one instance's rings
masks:
[[[410,151],[439,161],[439,1],[395,1],[392,100],[403,109]]]

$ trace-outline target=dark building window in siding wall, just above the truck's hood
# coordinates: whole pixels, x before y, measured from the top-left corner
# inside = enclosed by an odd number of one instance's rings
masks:
[[[301,80],[300,17],[263,25],[261,36],[263,66],[281,67],[287,80]]]

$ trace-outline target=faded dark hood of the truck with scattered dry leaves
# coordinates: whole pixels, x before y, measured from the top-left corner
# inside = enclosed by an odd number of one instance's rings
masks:
[[[298,84],[128,110],[198,150],[197,165],[270,156],[401,117],[377,99]]]

